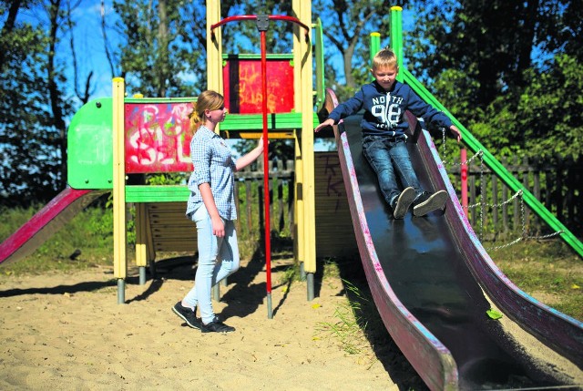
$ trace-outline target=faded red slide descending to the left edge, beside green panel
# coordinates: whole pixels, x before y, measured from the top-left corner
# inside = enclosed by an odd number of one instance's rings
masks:
[[[66,188],[0,244],[0,263],[14,262],[34,252],[104,191]]]

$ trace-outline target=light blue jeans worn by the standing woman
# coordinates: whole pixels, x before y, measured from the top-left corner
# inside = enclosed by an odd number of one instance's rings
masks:
[[[194,287],[184,297],[184,302],[191,307],[198,306],[202,322],[209,324],[215,317],[210,301],[212,286],[239,269],[237,232],[232,220],[223,220],[225,236],[213,235],[210,215],[204,204],[192,213],[191,219],[197,225],[199,265]]]

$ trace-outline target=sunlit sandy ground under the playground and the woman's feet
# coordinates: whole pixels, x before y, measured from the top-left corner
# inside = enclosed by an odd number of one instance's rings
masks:
[[[382,325],[347,353],[327,327],[346,304],[343,280],[318,279],[308,301],[306,283],[283,279],[291,262],[274,263],[272,319],[261,262],[243,262],[220,288],[215,312],[231,334],[201,334],[171,312],[194,280],[188,260],[160,262],[145,285],[130,270],[127,304],[108,267],[2,276],[0,389],[425,389]]]

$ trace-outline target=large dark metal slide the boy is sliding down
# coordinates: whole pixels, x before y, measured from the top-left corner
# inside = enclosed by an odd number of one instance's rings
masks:
[[[331,110],[332,91],[326,100]],[[447,190],[451,200],[445,211],[421,218],[409,212],[404,220],[394,220],[362,156],[361,117],[334,127],[363,268],[387,331],[431,389],[580,385],[583,324],[537,302],[497,269],[428,132],[408,119],[419,180],[425,190]],[[491,309],[502,318],[488,316]]]

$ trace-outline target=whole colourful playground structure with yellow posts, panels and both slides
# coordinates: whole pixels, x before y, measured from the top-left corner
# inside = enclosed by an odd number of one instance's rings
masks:
[[[324,103],[327,109],[333,107],[333,93],[328,92],[324,99],[322,73],[322,25],[315,27],[315,37],[312,39],[312,10],[310,2],[293,1],[295,17],[281,16],[251,16],[246,15],[239,20],[251,20],[258,24],[258,30],[269,28],[270,20],[292,22],[294,24],[292,56],[267,56],[261,50],[261,102],[245,100],[238,95],[240,91],[230,88],[230,77],[240,77],[241,69],[250,67],[250,72],[257,74],[259,61],[257,56],[233,57],[222,53],[220,26],[238,21],[237,18],[220,18],[218,2],[207,5],[207,68],[208,88],[223,91],[226,102],[230,105],[230,115],[220,124],[220,131],[230,136],[241,138],[258,138],[268,132],[270,138],[290,138],[295,142],[295,214],[296,243],[295,258],[302,264],[308,281],[308,300],[313,298],[313,273],[316,271],[315,241],[315,196],[314,196],[314,158],[313,131],[318,118],[313,112],[314,88],[312,87],[312,45],[316,57],[316,102]],[[435,108],[442,109],[455,125],[461,129],[467,147],[475,153],[482,151],[486,165],[494,170],[512,190],[523,190],[524,200],[549,226],[561,232],[561,238],[579,255],[583,254],[583,246],[577,238],[568,232],[547,209],[522,186],[520,182],[507,173],[506,169],[489,154],[470,132],[449,114],[445,108],[421,86],[403,67],[403,46],[401,33],[402,9],[394,7],[391,12],[391,45],[400,60],[401,80],[410,86],[425,101]],[[261,25],[261,26],[260,26]],[[306,28],[307,27],[307,28]],[[265,31],[265,30],[262,30]],[[373,35],[371,53],[380,46],[379,35]],[[223,61],[225,66],[223,66]],[[292,61],[292,72],[289,63]],[[246,63],[247,62],[247,63]],[[285,63],[288,67],[285,67]],[[270,77],[265,77],[267,68],[280,69],[271,71]],[[271,68],[273,67],[273,68]],[[283,69],[283,70],[281,70]],[[271,77],[288,77],[286,84],[292,84],[292,100],[274,103],[269,111],[268,105]],[[244,78],[239,80],[239,83]],[[276,83],[280,83],[278,80]],[[252,87],[252,86],[250,86]],[[255,85],[254,87],[258,87]],[[290,94],[286,94],[290,96]],[[126,98],[123,79],[113,81],[112,98],[98,99],[89,102],[81,108],[73,118],[69,128],[69,158],[68,183],[71,189],[64,190],[54,202],[39,212],[35,218],[16,232],[6,242],[2,243],[0,262],[14,261],[26,252],[32,251],[36,245],[46,239],[46,233],[61,224],[63,217],[74,215],[98,195],[106,191],[113,193],[114,201],[114,276],[118,280],[118,303],[125,303],[125,280],[128,271],[127,252],[127,203],[136,205],[136,262],[139,267],[140,283],[146,283],[146,267],[155,261],[156,251],[187,250],[195,247],[196,237],[191,234],[190,221],[180,215],[180,205],[184,205],[189,192],[184,186],[151,186],[129,184],[128,175],[147,172],[184,172],[191,170],[189,161],[189,138],[187,114],[191,109],[192,98]],[[260,105],[261,103],[261,105]],[[246,106],[247,105],[247,106]],[[259,113],[261,108],[261,113]],[[281,111],[280,111],[281,110]],[[239,112],[237,112],[239,111]],[[268,116],[268,112],[270,113]],[[410,118],[414,125],[415,118]],[[564,314],[560,314],[544,304],[521,292],[509,282],[491,261],[487,252],[477,240],[472,227],[464,217],[464,212],[457,202],[455,190],[444,174],[444,167],[435,152],[435,145],[426,136],[423,129],[412,126],[412,136],[417,143],[412,149],[412,156],[420,166],[417,171],[424,172],[424,180],[433,186],[429,188],[445,188],[449,191],[452,201],[448,201],[444,218],[430,216],[426,231],[415,228],[424,219],[405,219],[404,227],[386,217],[384,205],[376,200],[374,182],[366,166],[360,165],[358,158],[359,129],[354,122],[345,121],[340,129],[335,129],[342,162],[344,182],[348,194],[353,217],[354,233],[358,242],[363,267],[373,292],[373,297],[379,313],[382,315],[387,331],[404,352],[407,359],[414,365],[424,382],[432,389],[455,389],[465,386],[476,386],[480,380],[476,373],[487,374],[486,366],[495,364],[501,368],[507,364],[507,356],[516,352],[496,350],[496,355],[490,356],[492,350],[476,347],[475,352],[467,353],[466,346],[455,345],[455,338],[460,333],[460,324],[465,327],[467,314],[458,312],[461,306],[451,310],[450,303],[435,306],[424,304],[424,310],[434,315],[424,316],[423,311],[411,297],[412,290],[417,292],[422,285],[434,286],[435,275],[428,280],[420,277],[415,281],[414,288],[401,286],[401,278],[406,281],[411,278],[416,260],[428,259],[441,265],[444,270],[451,269],[455,264],[464,273],[445,276],[447,283],[460,280],[464,287],[469,287],[470,297],[461,296],[466,300],[467,307],[475,306],[478,310],[487,309],[486,294],[497,307],[517,324],[521,324],[531,334],[544,341],[561,355],[568,357],[580,369],[583,365],[583,325]],[[343,131],[344,130],[344,131]],[[348,142],[351,137],[351,142]],[[354,139],[356,137],[356,139]],[[264,137],[267,142],[267,138]],[[354,149],[356,148],[356,149]],[[267,150],[267,148],[266,148]],[[267,153],[264,154],[264,158]],[[264,164],[267,167],[267,164]],[[366,186],[363,186],[365,184]],[[267,189],[268,186],[265,186]],[[364,190],[368,189],[368,190]],[[269,197],[265,197],[268,201]],[[177,206],[178,205],[178,206]],[[371,211],[364,212],[363,205]],[[267,206],[267,205],[266,205]],[[267,208],[266,208],[266,211]],[[164,216],[162,230],[169,235],[166,242],[156,242],[152,232],[153,214]],[[266,216],[266,223],[269,224]],[[48,229],[51,227],[51,229]],[[388,238],[387,240],[387,233]],[[415,232],[420,232],[415,236]],[[377,232],[381,236],[376,236]],[[441,240],[450,248],[442,253],[433,248],[433,242],[425,241],[427,232],[441,232]],[[384,236],[383,236],[384,235]],[[414,235],[416,243],[404,240],[408,235]],[[413,241],[411,241],[413,242]],[[269,246],[269,228],[266,230],[266,245]],[[416,246],[426,246],[429,250],[419,251]],[[266,248],[269,262],[269,248]],[[383,254],[383,255],[381,255]],[[445,255],[444,255],[445,254]],[[404,259],[412,262],[408,268]],[[418,264],[418,263],[417,263]],[[430,263],[427,263],[430,264]],[[269,264],[266,266],[269,271]],[[404,271],[404,272],[403,272]],[[403,273],[401,273],[403,272]],[[385,274],[386,273],[386,274]],[[391,277],[389,277],[391,276]],[[451,277],[451,280],[447,280]],[[479,285],[478,285],[479,283]],[[269,283],[268,283],[269,287]],[[482,287],[486,293],[479,293]],[[407,289],[408,288],[408,289]],[[441,292],[441,291],[440,291]],[[481,292],[481,291],[480,291]],[[432,293],[435,293],[432,292]],[[458,293],[450,293],[449,298],[458,300]],[[268,301],[269,301],[268,288]],[[463,302],[459,299],[459,302]],[[433,302],[432,302],[433,303]],[[447,304],[447,305],[446,305]],[[269,303],[268,303],[269,305]],[[448,307],[449,305],[449,307]],[[460,310],[461,311],[461,310]],[[269,309],[268,309],[269,314]],[[473,314],[484,315],[476,311]],[[437,319],[439,322],[436,322]],[[460,320],[462,319],[462,320]],[[480,328],[479,321],[477,327]],[[508,343],[506,337],[499,337],[500,330],[496,324],[488,322],[486,328],[495,330],[486,343]],[[492,321],[494,322],[494,321]],[[440,326],[445,324],[446,326]],[[451,326],[447,330],[447,326]],[[558,332],[557,332],[558,331]],[[480,334],[481,339],[483,334]],[[484,338],[482,338],[484,339]],[[451,345],[450,345],[451,344]],[[502,349],[504,350],[504,349]],[[484,353],[486,352],[486,354]],[[488,359],[491,359],[488,361]],[[480,361],[484,360],[484,361]],[[493,361],[492,361],[493,360]],[[522,360],[522,361],[521,361]],[[519,355],[518,365],[527,365],[529,357]],[[476,363],[469,365],[467,363]],[[526,363],[526,364],[525,364]],[[469,365],[469,366],[468,366]],[[471,370],[470,370],[471,369]],[[477,371],[477,372],[476,372]],[[536,374],[535,374],[536,375]],[[479,376],[478,376],[479,377]],[[538,381],[535,376],[532,381]],[[545,379],[552,383],[552,379]]]

